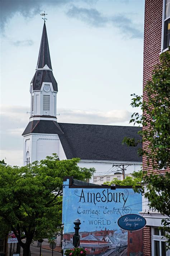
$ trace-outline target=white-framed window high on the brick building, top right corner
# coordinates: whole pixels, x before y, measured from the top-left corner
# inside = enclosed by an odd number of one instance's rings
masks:
[[[164,0],[162,22],[162,48],[166,50],[170,46],[170,0]]]

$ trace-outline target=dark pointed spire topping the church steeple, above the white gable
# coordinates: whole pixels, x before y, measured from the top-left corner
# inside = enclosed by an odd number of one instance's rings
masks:
[[[44,22],[43,32],[42,32],[42,37],[41,37],[41,44],[40,44],[40,48],[39,48],[37,69],[43,68],[46,65],[48,66],[49,69],[52,69],[51,59],[50,59],[50,54],[49,54],[46,23]]]

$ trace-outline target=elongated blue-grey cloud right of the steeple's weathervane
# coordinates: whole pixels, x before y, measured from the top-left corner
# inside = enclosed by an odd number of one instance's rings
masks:
[[[81,21],[90,24],[94,27],[103,27],[108,24],[119,28],[123,37],[128,36],[129,38],[143,39],[143,31],[140,26],[134,24],[132,19],[125,16],[125,14],[112,15],[110,17],[104,16],[98,10],[94,8],[78,8],[72,6],[66,13],[71,18],[77,18]]]

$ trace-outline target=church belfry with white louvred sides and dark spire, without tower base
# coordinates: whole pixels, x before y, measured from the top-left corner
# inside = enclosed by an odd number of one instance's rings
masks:
[[[57,82],[53,76],[46,23],[44,22],[36,73],[30,83],[31,120],[56,118]]]

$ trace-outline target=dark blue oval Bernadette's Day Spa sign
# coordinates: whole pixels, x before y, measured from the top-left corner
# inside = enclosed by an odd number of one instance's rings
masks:
[[[138,214],[126,214],[118,219],[118,225],[122,229],[135,231],[144,228],[146,220]]]

